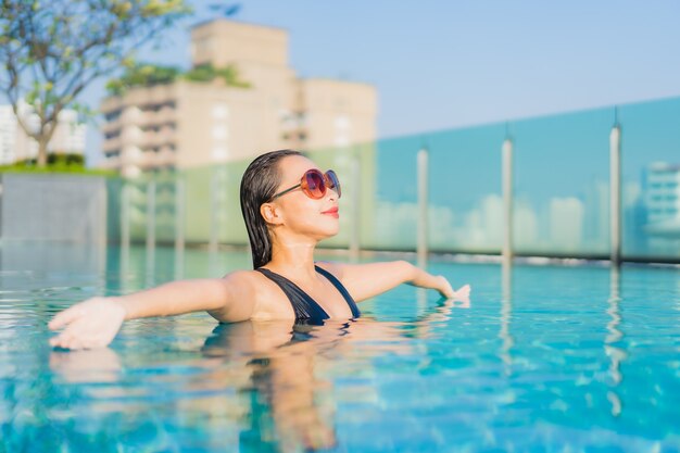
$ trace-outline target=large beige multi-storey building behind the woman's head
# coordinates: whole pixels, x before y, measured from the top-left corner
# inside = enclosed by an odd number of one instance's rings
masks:
[[[194,67],[234,66],[250,88],[178,80],[133,88],[101,105],[104,163],[124,176],[373,141],[377,92],[366,84],[298,78],[282,29],[212,21],[191,32]]]

